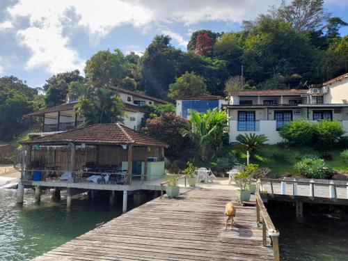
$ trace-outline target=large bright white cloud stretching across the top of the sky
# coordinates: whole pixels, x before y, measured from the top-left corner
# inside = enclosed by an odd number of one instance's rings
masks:
[[[63,33],[65,26],[83,27],[90,39],[103,38],[124,24],[132,24],[143,32],[157,26],[157,31],[170,35],[185,47],[187,41],[166,29],[168,24],[242,22],[278,3],[277,0],[19,0],[8,8],[9,18],[0,24],[0,30],[12,28],[18,17],[28,17],[29,26],[17,31],[21,45],[31,52],[26,69],[44,67],[56,73],[84,66],[84,60],[70,45],[71,35]],[[75,19],[67,19],[72,13]]]

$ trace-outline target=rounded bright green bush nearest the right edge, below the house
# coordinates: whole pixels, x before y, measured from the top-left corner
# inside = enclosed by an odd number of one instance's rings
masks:
[[[315,124],[315,137],[323,146],[335,143],[345,131],[337,120],[319,120]]]

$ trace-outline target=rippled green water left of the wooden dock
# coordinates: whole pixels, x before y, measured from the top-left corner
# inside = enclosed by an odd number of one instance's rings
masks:
[[[50,195],[42,195],[40,205],[34,193],[26,190],[23,207],[16,205],[16,192],[0,189],[0,260],[30,260],[56,246],[95,228],[96,224],[120,215],[108,200],[72,200],[67,212],[65,201],[52,203]]]

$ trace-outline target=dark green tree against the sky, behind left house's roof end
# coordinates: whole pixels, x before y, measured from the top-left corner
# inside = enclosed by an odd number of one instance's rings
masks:
[[[79,70],[58,73],[47,79],[47,83],[43,86],[46,92],[46,106],[56,106],[65,102],[68,94],[68,86],[72,81],[84,81],[84,77],[81,77]]]

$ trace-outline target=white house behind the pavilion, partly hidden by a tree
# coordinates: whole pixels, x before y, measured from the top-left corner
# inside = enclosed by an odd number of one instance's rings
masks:
[[[123,125],[131,129],[139,130],[143,122],[145,113],[148,109],[144,105],[159,105],[167,104],[164,100],[143,95],[132,90],[126,90],[123,88],[110,87],[121,97],[121,100],[125,103],[125,115]],[[83,118],[74,115],[74,105],[77,100],[69,100],[65,104],[53,106],[51,108],[35,111],[33,113],[26,114],[25,117],[42,117],[42,126],[34,127],[34,133],[31,136],[42,136],[52,134],[54,132],[64,132],[69,129],[74,129],[81,125],[84,121]]]

